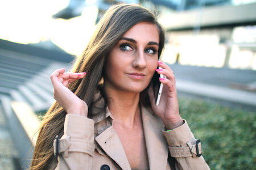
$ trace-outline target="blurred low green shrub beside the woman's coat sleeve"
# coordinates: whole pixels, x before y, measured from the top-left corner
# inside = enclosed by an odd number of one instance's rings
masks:
[[[179,107],[211,169],[255,169],[255,112],[184,96]]]

